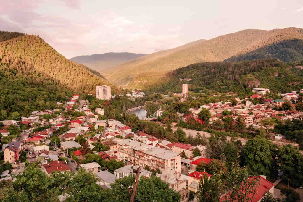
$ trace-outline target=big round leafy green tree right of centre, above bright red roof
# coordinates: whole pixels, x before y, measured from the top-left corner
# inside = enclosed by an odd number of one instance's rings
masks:
[[[245,143],[241,153],[241,165],[253,175],[274,175],[278,146],[266,139],[253,138]]]

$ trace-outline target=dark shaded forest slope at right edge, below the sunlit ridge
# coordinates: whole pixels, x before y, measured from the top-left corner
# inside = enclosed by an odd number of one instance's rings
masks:
[[[284,62],[303,60],[303,40],[291,39],[273,43],[243,55],[233,56],[225,61],[243,61],[265,58],[276,58]]]

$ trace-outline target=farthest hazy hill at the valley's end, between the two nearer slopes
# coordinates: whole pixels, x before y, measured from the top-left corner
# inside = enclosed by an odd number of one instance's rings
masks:
[[[81,55],[71,58],[71,61],[86,65],[95,71],[103,73],[110,72],[114,66],[121,65],[130,60],[142,57],[142,53],[104,53],[94,55]]]

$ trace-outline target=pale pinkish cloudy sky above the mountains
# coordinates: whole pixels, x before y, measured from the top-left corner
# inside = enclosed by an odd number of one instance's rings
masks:
[[[153,53],[243,29],[303,28],[302,0],[0,0],[0,30],[39,35],[66,58]]]

